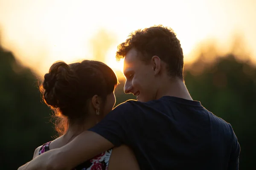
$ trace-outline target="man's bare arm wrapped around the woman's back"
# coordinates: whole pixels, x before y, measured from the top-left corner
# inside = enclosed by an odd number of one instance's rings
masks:
[[[84,131],[65,146],[35,157],[18,170],[70,170],[112,147],[113,144],[99,134]]]

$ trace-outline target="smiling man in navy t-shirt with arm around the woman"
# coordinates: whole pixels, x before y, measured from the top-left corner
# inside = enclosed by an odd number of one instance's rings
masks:
[[[125,93],[137,96],[59,149],[20,169],[70,170],[114,146],[134,150],[142,170],[239,168],[240,146],[230,124],[193,101],[183,80],[183,52],[170,28],[137,30],[119,45]]]

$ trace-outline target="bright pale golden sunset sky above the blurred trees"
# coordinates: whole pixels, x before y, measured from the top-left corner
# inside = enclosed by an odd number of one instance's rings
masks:
[[[39,74],[57,60],[121,69],[116,46],[158,24],[177,33],[185,62],[207,40],[228,51],[235,34],[256,61],[256,0],[0,0],[3,47]]]

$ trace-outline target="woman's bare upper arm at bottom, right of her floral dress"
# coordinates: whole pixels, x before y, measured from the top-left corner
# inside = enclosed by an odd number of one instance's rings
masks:
[[[108,170],[140,170],[140,167],[131,148],[121,145],[113,148]]]

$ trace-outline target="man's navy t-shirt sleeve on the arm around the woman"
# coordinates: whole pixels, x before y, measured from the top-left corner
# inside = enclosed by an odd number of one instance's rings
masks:
[[[132,102],[129,101],[118,105],[101,122],[89,130],[108,139],[113,145],[120,146],[125,142],[131,122],[134,119],[135,106],[132,105]]]

